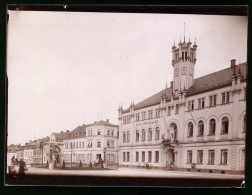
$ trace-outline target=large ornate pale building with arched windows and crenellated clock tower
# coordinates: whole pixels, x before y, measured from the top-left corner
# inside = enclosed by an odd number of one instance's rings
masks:
[[[120,166],[244,172],[247,64],[195,79],[197,47],[174,44],[170,87],[119,107]]]

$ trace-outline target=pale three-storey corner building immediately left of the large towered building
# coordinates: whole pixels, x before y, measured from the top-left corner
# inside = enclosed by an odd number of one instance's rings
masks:
[[[82,125],[69,132],[63,140],[64,161],[67,164],[117,163],[118,125],[109,120]]]

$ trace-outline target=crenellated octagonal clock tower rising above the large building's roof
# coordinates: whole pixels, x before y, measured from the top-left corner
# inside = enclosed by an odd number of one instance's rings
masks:
[[[187,90],[194,83],[194,65],[196,64],[196,39],[194,45],[190,42],[180,43],[178,47],[175,43],[172,47],[172,66],[173,66],[173,94],[177,96],[180,91]]]

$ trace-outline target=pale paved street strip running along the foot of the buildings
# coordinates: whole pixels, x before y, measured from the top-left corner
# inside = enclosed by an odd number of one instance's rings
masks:
[[[182,171],[146,170],[120,168],[118,170],[49,170],[42,168],[29,168],[26,174],[40,175],[76,175],[98,177],[143,177],[143,178],[193,178],[193,179],[244,179],[243,175],[209,174]]]

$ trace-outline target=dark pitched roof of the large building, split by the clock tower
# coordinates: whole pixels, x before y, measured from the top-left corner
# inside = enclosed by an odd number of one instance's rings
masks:
[[[238,74],[239,70],[241,71],[242,81],[245,81],[247,79],[246,68],[247,68],[247,63],[242,63],[235,66],[236,75]],[[188,89],[186,96],[188,97],[188,96],[196,95],[198,93],[204,93],[206,91],[215,90],[221,87],[231,85],[233,73],[234,73],[234,69],[229,67],[229,68],[196,78],[194,80],[193,86]],[[159,104],[161,101],[162,93],[164,93],[166,95],[166,98],[168,98],[169,100],[172,94],[172,89],[166,88],[164,91],[160,91],[154,94],[153,96],[135,104],[134,109],[137,110],[137,109]],[[123,113],[127,113],[129,111],[130,109],[127,108],[123,110]]]

